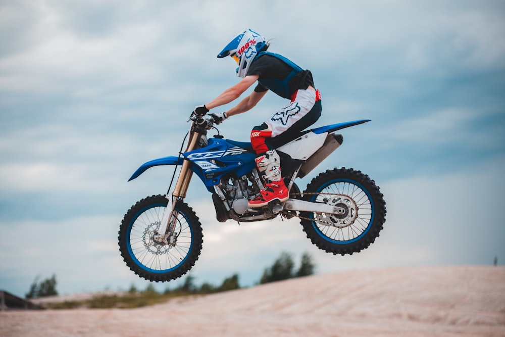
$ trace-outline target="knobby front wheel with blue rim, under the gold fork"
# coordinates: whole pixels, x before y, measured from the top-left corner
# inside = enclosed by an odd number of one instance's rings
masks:
[[[177,201],[173,244],[154,239],[167,208],[165,196],[140,200],[126,213],[119,229],[119,250],[126,265],[150,281],[169,281],[189,271],[198,259],[204,242],[201,224],[194,211]]]

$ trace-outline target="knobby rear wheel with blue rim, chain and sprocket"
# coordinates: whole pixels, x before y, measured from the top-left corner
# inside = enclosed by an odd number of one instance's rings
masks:
[[[301,212],[301,225],[319,249],[333,254],[358,253],[379,236],[386,203],[375,182],[353,169],[320,173],[304,191],[304,200],[332,205],[334,214]]]

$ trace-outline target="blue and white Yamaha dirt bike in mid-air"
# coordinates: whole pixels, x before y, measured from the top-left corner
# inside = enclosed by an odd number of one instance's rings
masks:
[[[219,222],[262,221],[278,216],[298,217],[302,229],[319,249],[333,254],[352,254],[370,246],[383,228],[386,207],[379,187],[366,174],[334,168],[320,173],[301,192],[296,178],[307,176],[343,142],[334,131],[370,120],[357,120],[304,130],[289,138],[275,137],[272,144],[281,158],[289,199],[261,208],[248,200],[264,187],[250,142],[225,139],[212,118],[190,116],[187,148],[141,165],[131,181],[150,167],[175,165],[166,195],[154,195],[133,205],[119,230],[119,249],[127,266],[151,281],[168,281],[187,273],[203,245],[201,223],[184,202],[191,177],[196,174],[212,194]],[[217,135],[208,138],[207,131]],[[170,194],[176,171],[178,179]]]

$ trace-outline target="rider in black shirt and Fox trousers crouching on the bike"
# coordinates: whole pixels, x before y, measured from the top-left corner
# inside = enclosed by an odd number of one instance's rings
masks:
[[[252,128],[251,145],[257,154],[256,166],[265,181],[265,189],[248,202],[249,207],[262,207],[274,200],[284,202],[289,198],[281,175],[279,154],[273,148],[271,139],[287,138],[314,124],[321,116],[321,95],[314,87],[310,70],[298,67],[281,55],[266,52],[268,46],[265,38],[251,29],[233,38],[217,57],[232,57],[238,64],[237,76],[242,80],[211,102],[196,106],[193,111],[197,116],[205,116],[210,109],[238,99],[256,81],[258,84],[254,91],[246,98],[226,112],[210,114],[211,120],[220,124],[233,115],[252,109],[268,90],[290,100],[270,119]]]

